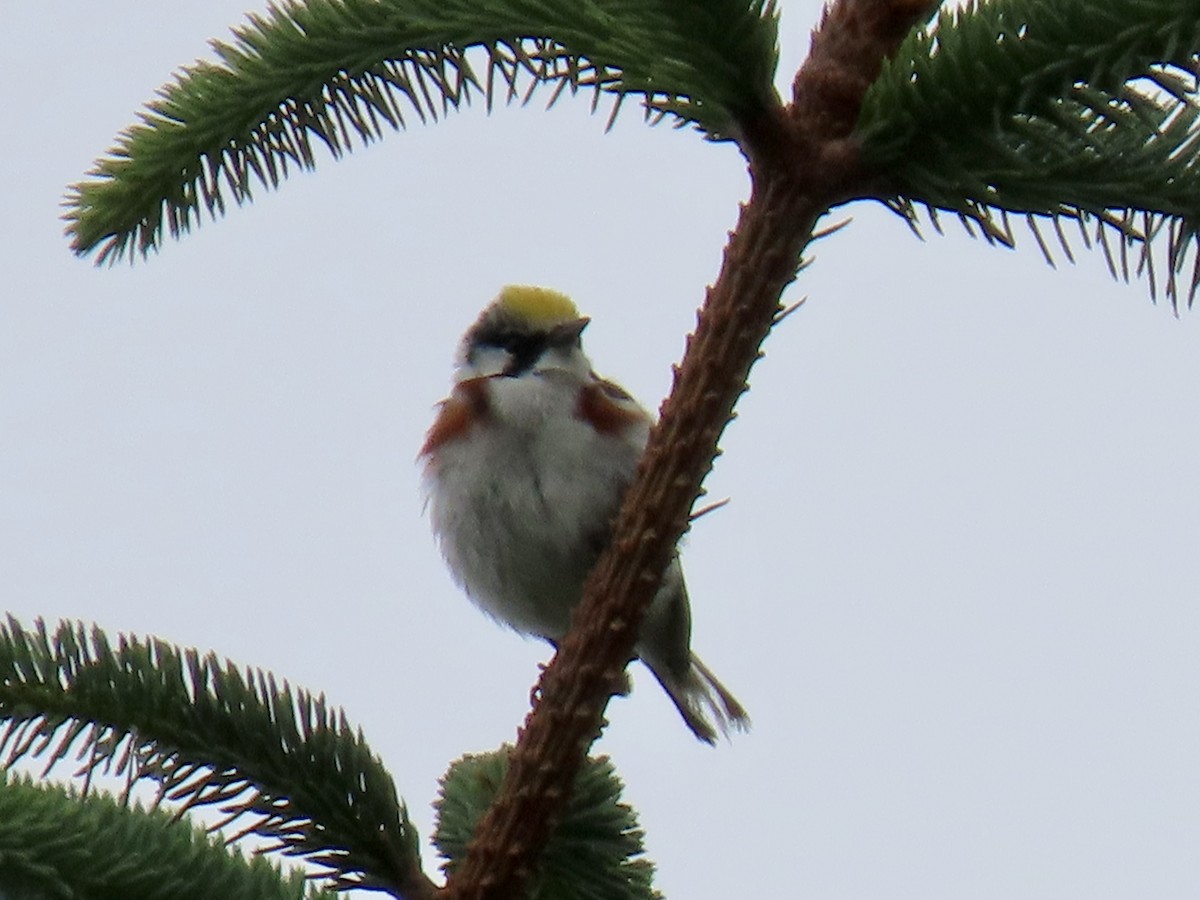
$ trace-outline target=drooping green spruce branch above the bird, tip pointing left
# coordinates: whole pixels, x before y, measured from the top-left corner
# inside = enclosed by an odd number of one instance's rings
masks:
[[[185,68],[67,196],[77,253],[146,254],[204,214],[409,119],[552,88],[641,101],[710,138],[772,102],[773,0],[286,0]],[[469,56],[486,68],[482,82]],[[610,118],[610,124],[611,124]]]

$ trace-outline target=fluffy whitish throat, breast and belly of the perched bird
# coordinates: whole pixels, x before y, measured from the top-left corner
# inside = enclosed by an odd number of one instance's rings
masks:
[[[427,467],[433,529],[485,611],[550,638],[566,632],[648,427],[604,436],[575,415],[562,371],[488,382],[490,420]]]

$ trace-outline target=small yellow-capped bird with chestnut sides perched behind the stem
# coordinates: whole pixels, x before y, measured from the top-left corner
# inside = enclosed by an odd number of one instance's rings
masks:
[[[589,319],[551,288],[509,284],[463,335],[418,460],[455,581],[492,618],[556,646],[646,449],[650,414],[583,353]],[[742,704],[691,652],[678,550],[635,653],[702,742]]]

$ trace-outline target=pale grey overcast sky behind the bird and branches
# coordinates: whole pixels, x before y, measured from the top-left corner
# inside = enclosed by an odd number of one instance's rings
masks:
[[[475,108],[149,262],[73,258],[66,185],[248,4],[0,6],[0,598],[325,691],[427,835],[437,778],[514,737],[547,658],[421,515],[458,336],[504,283],[563,289],[656,407],[745,167],[634,108],[608,134],[582,100]],[[782,7],[786,84],[820,5]],[[658,886],[1194,900],[1196,317],[1082,248],[1055,271],[846,214],[685,548],[694,646],[754,731],[697,744],[635,667],[596,746]]]

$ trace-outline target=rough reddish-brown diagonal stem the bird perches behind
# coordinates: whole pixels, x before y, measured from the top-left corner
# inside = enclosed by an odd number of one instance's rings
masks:
[[[688,341],[613,540],[571,631],[541,677],[508,776],[448,884],[455,900],[512,900],[536,865],[608,698],[624,684],[637,628],[712,468],[716,442],[778,320],[817,218],[860,190],[852,139],[883,59],[936,0],[838,0],[814,34],[793,103],[745,128],[752,191]]]

